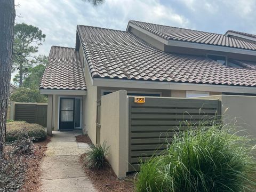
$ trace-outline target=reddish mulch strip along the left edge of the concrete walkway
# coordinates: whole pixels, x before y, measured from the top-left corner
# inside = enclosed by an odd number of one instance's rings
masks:
[[[45,141],[34,143],[34,158],[31,158],[28,162],[28,169],[26,171],[25,183],[20,191],[41,191],[41,170],[40,164],[43,157],[45,156],[45,151],[47,149],[46,145],[50,142],[50,137],[47,137]]]

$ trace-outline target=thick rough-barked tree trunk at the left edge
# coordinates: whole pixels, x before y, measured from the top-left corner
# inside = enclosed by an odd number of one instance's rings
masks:
[[[5,142],[14,19],[14,0],[0,0],[0,157],[3,157]]]

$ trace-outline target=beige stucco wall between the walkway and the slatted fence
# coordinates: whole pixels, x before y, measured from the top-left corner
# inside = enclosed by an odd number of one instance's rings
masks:
[[[118,178],[128,170],[127,92],[116,91],[101,97],[100,143],[109,146],[108,161]],[[111,113],[109,113],[111,111]]]

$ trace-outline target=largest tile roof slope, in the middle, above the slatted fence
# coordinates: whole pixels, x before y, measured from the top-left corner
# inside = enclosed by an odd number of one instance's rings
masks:
[[[256,86],[256,70],[163,52],[126,31],[77,26],[92,78]]]

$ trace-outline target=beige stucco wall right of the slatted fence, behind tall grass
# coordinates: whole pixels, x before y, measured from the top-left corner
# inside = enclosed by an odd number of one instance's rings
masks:
[[[223,123],[234,123],[256,137],[256,97],[241,95],[215,95],[204,97],[219,99],[222,105]]]

